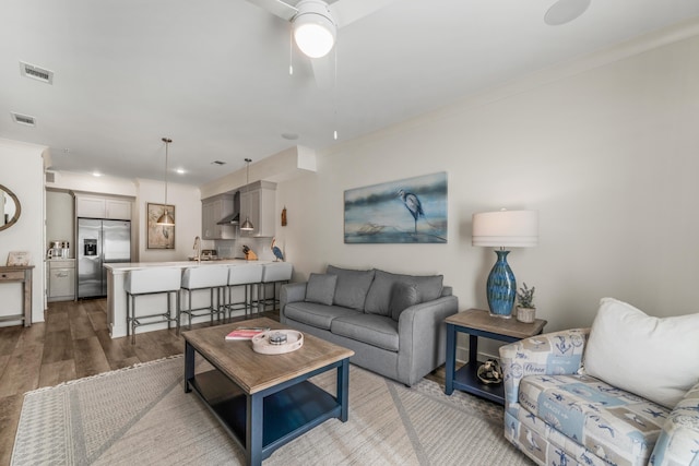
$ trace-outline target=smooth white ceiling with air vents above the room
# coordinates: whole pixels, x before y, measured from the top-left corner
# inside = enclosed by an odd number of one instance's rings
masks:
[[[592,0],[548,26],[553,3],[396,0],[339,31],[337,83],[319,88],[297,50],[288,74],[288,23],[246,0],[3,0],[0,138],[49,146],[57,170],[159,180],[169,136],[170,169],[187,170],[170,181],[201,184],[699,17],[699,0]],[[54,84],[22,77],[20,61]]]

